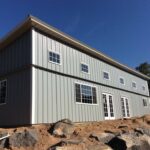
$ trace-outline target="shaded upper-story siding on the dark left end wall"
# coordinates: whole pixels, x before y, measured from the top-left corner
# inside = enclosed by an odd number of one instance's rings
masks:
[[[31,64],[30,31],[0,50],[0,76]]]

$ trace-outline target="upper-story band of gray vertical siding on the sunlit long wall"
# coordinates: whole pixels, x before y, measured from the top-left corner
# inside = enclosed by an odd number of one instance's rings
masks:
[[[61,65],[57,65],[48,61],[49,50],[60,53]],[[81,72],[81,62],[89,65],[89,74]],[[33,62],[33,64],[64,74],[73,75],[75,77],[81,77],[83,79],[137,92],[147,96],[149,95],[146,80],[106,64],[37,31],[35,32],[35,62]],[[110,80],[103,79],[103,71],[110,73]],[[123,77],[125,79],[125,85],[121,85],[119,83],[119,77]],[[136,82],[137,89],[132,88],[132,81]],[[143,85],[146,87],[145,91],[142,90]]]

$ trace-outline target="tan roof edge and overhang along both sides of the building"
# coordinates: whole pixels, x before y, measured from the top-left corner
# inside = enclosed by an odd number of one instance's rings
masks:
[[[17,25],[15,27],[15,29],[10,31],[4,38],[0,39],[0,49],[7,46],[13,40],[15,40],[17,37],[19,37],[22,33],[24,33],[25,31],[27,31],[28,29],[30,29],[32,27],[35,27],[35,28],[43,31],[46,34],[53,35],[57,39],[60,39],[66,43],[69,43],[70,45],[75,46],[75,47],[83,50],[84,52],[88,52],[88,53],[94,55],[95,57],[98,57],[99,59],[101,59],[109,64],[112,64],[113,66],[115,66],[121,70],[127,71],[127,72],[134,74],[138,77],[141,77],[143,79],[150,80],[150,77],[148,77],[126,65],[121,64],[120,62],[112,59],[111,57],[106,56],[102,52],[89,47],[87,44],[50,26],[49,24],[43,22],[42,20],[38,19],[37,17],[32,16],[31,14],[29,14],[28,17],[22,23]]]

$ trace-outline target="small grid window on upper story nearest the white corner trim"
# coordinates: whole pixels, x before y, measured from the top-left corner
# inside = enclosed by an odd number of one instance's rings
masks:
[[[49,52],[49,61],[56,63],[56,64],[60,64],[60,54],[53,52],[53,51],[50,51]]]

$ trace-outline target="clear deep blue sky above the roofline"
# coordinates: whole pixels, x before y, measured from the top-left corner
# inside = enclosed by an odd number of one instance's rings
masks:
[[[150,63],[150,0],[1,0],[0,38],[28,14],[132,68]]]

